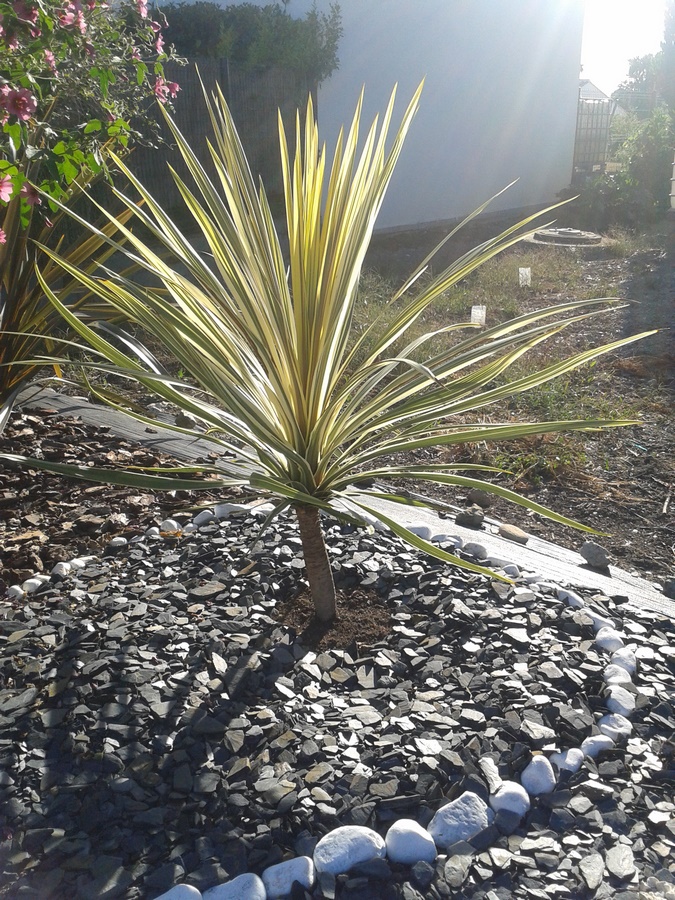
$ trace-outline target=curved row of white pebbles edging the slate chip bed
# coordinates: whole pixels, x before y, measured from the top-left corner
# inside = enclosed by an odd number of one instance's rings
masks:
[[[266,514],[272,509],[271,504],[249,507],[239,503],[221,503],[210,509],[204,509],[194,516],[185,526],[175,519],[165,519],[159,526],[145,531],[145,538],[162,540],[166,537],[177,537],[190,534],[202,525],[218,519],[228,518],[233,512]],[[372,517],[369,517],[369,519]],[[368,522],[369,525],[381,526],[378,530],[388,530],[379,522]],[[492,566],[510,578],[518,578],[525,584],[536,584],[540,589],[557,592],[559,600],[568,606],[583,610],[591,619],[595,632],[595,645],[608,654],[608,665],[603,673],[607,687],[608,713],[596,723],[600,734],[592,735],[582,741],[581,746],[570,748],[560,753],[551,753],[548,757],[543,753],[535,753],[532,760],[521,772],[520,783],[501,781],[494,761],[489,757],[480,760],[481,766],[491,770],[491,787],[497,784],[489,797],[489,805],[474,793],[466,791],[456,800],[440,807],[429,823],[423,828],[412,819],[399,819],[394,822],[383,839],[376,831],[361,825],[345,825],[333,829],[318,841],[312,858],[294,857],[265,869],[262,877],[254,874],[239,875],[224,884],[209,888],[203,893],[197,888],[178,884],[169,891],[157,896],[155,900],[283,900],[291,894],[293,884],[298,882],[311,890],[321,877],[349,872],[353,867],[374,859],[388,858],[394,863],[414,865],[420,860],[433,863],[438,849],[446,850],[457,841],[468,841],[487,828],[495,818],[495,813],[505,811],[523,818],[529,811],[532,801],[537,797],[551,793],[557,785],[556,770],[578,772],[586,757],[595,759],[599,754],[613,749],[617,743],[631,740],[633,726],[630,716],[635,710],[634,696],[623,687],[632,683],[632,676],[637,670],[635,648],[624,643],[625,635],[617,631],[614,622],[587,606],[585,601],[574,591],[551,585],[545,582],[538,573],[524,573],[514,563],[488,556],[482,544],[464,543],[461,537],[445,533],[433,534],[429,526],[414,526],[411,531],[425,540],[434,543],[454,544],[455,549],[473,555],[481,564]],[[136,540],[139,540],[138,538]],[[134,538],[131,539],[132,543]],[[129,543],[127,538],[114,537],[107,545],[108,551],[117,552]],[[12,585],[7,589],[7,597],[11,600],[22,599],[34,593],[43,584],[51,581],[52,576],[63,578],[73,570],[83,569],[96,557],[81,556],[70,562],[59,562],[53,567],[51,575],[35,575],[21,585]],[[516,587],[516,592],[530,593],[528,588]],[[636,744],[642,742],[636,740]],[[656,758],[655,760],[656,761]],[[590,780],[600,784],[598,776],[589,775]],[[640,900],[675,900],[675,884],[660,882],[656,878],[648,878],[641,885],[637,895]]]

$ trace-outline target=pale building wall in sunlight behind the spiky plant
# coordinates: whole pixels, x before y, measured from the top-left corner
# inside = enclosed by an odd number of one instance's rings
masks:
[[[317,5],[325,9],[328,0]],[[302,16],[310,6],[291,0],[288,10]],[[583,0],[340,0],[340,7],[340,68],[319,92],[329,148],[363,84],[370,124],[395,82],[400,118],[426,76],[378,227],[459,217],[516,178],[492,211],[546,204],[569,184]]]

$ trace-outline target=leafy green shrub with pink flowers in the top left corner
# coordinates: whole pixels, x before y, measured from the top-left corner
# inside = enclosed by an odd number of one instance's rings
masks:
[[[165,27],[146,0],[0,0],[0,203],[20,199],[23,228],[41,205],[33,185],[63,200],[101,171],[104,144],[157,138],[150,101],[179,90],[164,78]]]

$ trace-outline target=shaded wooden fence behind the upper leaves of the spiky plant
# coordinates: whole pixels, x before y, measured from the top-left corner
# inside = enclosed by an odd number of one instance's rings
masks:
[[[207,138],[211,137],[211,123],[195,64],[209,93],[216,82],[220,84],[232,111],[251,171],[256,178],[260,176],[263,179],[267,195],[274,204],[282,194],[278,110],[281,110],[292,150],[295,143],[295,113],[298,108],[306,106],[310,90],[315,94],[313,86],[302,75],[287,69],[250,72],[226,59],[198,59],[191,60],[188,66],[167,66],[167,81],[177,81],[181,88],[174,101],[174,119],[211,175],[215,172],[206,145]],[[138,147],[130,157],[130,166],[164,208],[172,209],[182,201],[167,169],[167,163],[188,184],[190,179],[187,167],[175,145],[172,145],[170,133],[165,126],[162,133],[168,143],[152,150]]]

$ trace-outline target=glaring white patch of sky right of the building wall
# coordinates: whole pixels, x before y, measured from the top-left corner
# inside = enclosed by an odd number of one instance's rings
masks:
[[[660,50],[666,0],[586,0],[583,78],[606,94],[628,75],[628,60]]]

